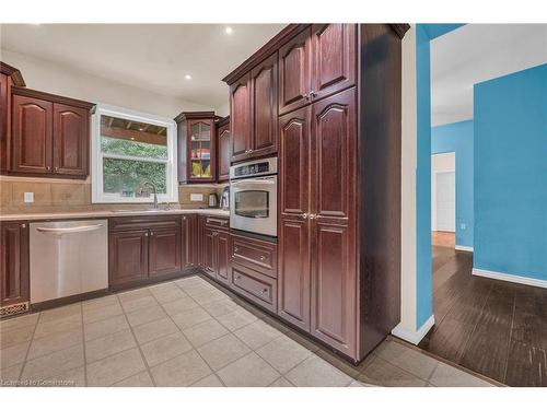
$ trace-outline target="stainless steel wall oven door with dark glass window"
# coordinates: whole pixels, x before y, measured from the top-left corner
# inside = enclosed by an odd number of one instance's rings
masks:
[[[277,175],[230,183],[230,226],[277,236]]]

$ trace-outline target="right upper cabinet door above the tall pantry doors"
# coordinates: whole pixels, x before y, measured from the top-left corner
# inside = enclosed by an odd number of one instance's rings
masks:
[[[356,84],[357,24],[312,27],[312,101]]]

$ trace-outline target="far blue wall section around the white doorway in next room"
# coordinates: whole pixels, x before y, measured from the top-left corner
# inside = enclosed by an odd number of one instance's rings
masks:
[[[431,154],[446,152],[456,153],[456,245],[473,247],[473,120],[431,128]]]

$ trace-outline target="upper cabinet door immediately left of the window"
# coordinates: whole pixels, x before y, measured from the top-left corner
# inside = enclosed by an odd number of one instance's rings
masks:
[[[85,177],[90,144],[90,113],[54,104],[54,172]]]

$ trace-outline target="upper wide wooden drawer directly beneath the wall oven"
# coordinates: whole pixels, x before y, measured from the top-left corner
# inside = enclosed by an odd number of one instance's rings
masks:
[[[232,235],[231,260],[277,279],[277,245]]]

